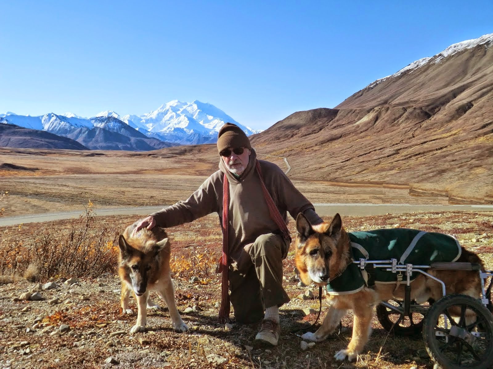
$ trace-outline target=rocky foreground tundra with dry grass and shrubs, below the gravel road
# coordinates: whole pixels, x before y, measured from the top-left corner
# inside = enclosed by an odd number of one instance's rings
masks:
[[[163,309],[148,312],[147,332],[130,334],[135,316],[119,313],[117,240],[139,216],[95,215],[89,202],[79,218],[0,227],[2,368],[433,367],[420,336],[394,337],[376,319],[372,339],[357,362],[336,362],[333,353],[351,338],[350,314],[343,319],[339,336],[303,345],[290,332],[315,322],[318,289],[299,284],[293,251],[284,263],[283,285],[291,302],[281,307],[280,344],[257,345],[255,324],[240,326],[233,319],[231,326],[219,325],[220,275],[214,273],[221,250],[217,216],[167,229],[176,303],[189,332],[173,332]],[[488,212],[346,216],[343,223],[348,231],[409,227],[455,234],[493,269],[493,215]],[[289,229],[294,233],[292,219]],[[157,295],[151,296],[165,307]],[[131,308],[137,311],[133,298]],[[323,315],[322,307],[320,318]]]

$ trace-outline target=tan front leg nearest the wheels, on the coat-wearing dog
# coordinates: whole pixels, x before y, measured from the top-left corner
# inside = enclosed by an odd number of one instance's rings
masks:
[[[334,358],[336,360],[344,360],[346,357],[349,361],[356,359],[358,353],[363,350],[364,345],[368,341],[371,334],[371,320],[373,318],[373,306],[362,308],[354,311],[354,322],[352,326],[352,338],[348,347],[338,351]]]

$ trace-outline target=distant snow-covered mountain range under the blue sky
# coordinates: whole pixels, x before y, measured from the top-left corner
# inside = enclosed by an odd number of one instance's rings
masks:
[[[10,112],[0,114],[0,123],[54,133],[91,150],[148,151],[176,145],[214,143],[217,132],[226,122],[239,125],[247,135],[260,132],[243,126],[222,110],[198,100],[191,103],[173,100],[142,116],[120,116],[111,110],[92,118],[73,113],[48,113],[36,117]],[[20,139],[21,132],[17,130],[16,140],[10,140],[10,143],[22,145],[17,147],[31,147],[29,139]],[[6,135],[5,130],[3,135]],[[51,140],[50,147],[52,145]],[[66,145],[67,142],[62,140],[59,148],[68,148]]]

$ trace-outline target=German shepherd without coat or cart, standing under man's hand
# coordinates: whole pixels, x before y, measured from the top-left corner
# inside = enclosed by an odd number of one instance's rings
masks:
[[[118,275],[122,282],[121,313],[132,313],[128,299],[134,293],[138,306],[137,322],[131,333],[144,332],[147,308],[158,310],[149,298],[149,290],[157,291],[168,306],[173,328],[186,332],[187,325],[176,309],[175,288],[171,280],[170,243],[163,228],[141,229],[136,234],[135,228],[140,221],[129,225],[118,240],[120,246]]]

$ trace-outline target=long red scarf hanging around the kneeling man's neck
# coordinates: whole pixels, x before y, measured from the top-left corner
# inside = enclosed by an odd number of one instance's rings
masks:
[[[274,219],[279,229],[282,232],[282,236],[285,240],[291,241],[291,237],[289,236],[289,231],[287,229],[286,223],[284,219],[282,219],[281,214],[279,213],[279,209],[277,208],[274,200],[272,199],[271,194],[267,190],[265,186],[264,179],[262,177],[262,171],[260,169],[260,164],[256,161],[255,165],[256,172],[260,178],[260,183],[262,184],[262,190],[264,192],[264,198],[267,202],[267,206],[269,207],[269,213],[271,218]],[[221,282],[221,307],[219,308],[219,322],[227,323],[229,321],[229,286],[228,286],[228,260],[229,260],[229,252],[228,252],[228,225],[229,225],[229,181],[226,174],[224,174],[223,181],[223,198],[222,198],[222,256],[219,262],[221,263],[222,270],[222,282]]]

